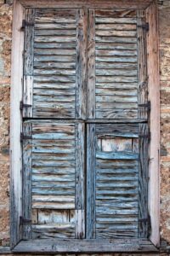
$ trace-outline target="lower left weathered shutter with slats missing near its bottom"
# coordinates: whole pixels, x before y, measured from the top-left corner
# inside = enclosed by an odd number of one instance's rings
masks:
[[[48,120],[24,123],[25,238],[84,236],[83,127]]]

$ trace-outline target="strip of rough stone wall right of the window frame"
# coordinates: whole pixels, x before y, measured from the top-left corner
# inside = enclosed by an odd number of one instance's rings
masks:
[[[159,3],[161,79],[161,238],[170,242],[170,1]]]

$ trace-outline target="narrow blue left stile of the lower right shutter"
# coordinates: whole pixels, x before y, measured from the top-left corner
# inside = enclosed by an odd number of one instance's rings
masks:
[[[95,125],[87,126],[87,213],[86,238],[95,238]]]

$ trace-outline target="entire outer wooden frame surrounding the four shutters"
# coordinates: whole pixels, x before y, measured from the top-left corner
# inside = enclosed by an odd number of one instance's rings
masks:
[[[93,240],[31,240],[22,241],[20,216],[22,216],[22,154],[20,132],[22,116],[20,101],[23,84],[23,50],[24,32],[22,20],[24,9],[29,8],[115,8],[115,9],[146,9],[150,31],[147,36],[149,99],[150,109],[150,181],[149,181],[149,213],[150,241],[145,239],[93,241]],[[10,237],[13,252],[32,253],[109,253],[109,252],[151,252],[156,251],[160,244],[160,88],[159,88],[159,52],[156,0],[86,0],[73,3],[70,1],[14,0],[12,73],[11,73],[11,109],[10,109],[10,161],[11,161],[11,208]],[[64,246],[65,245],[65,246]]]

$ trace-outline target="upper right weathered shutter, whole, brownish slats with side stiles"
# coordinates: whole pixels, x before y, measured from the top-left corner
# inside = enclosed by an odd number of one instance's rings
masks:
[[[88,15],[88,118],[138,119],[141,112],[147,118],[144,11]]]

